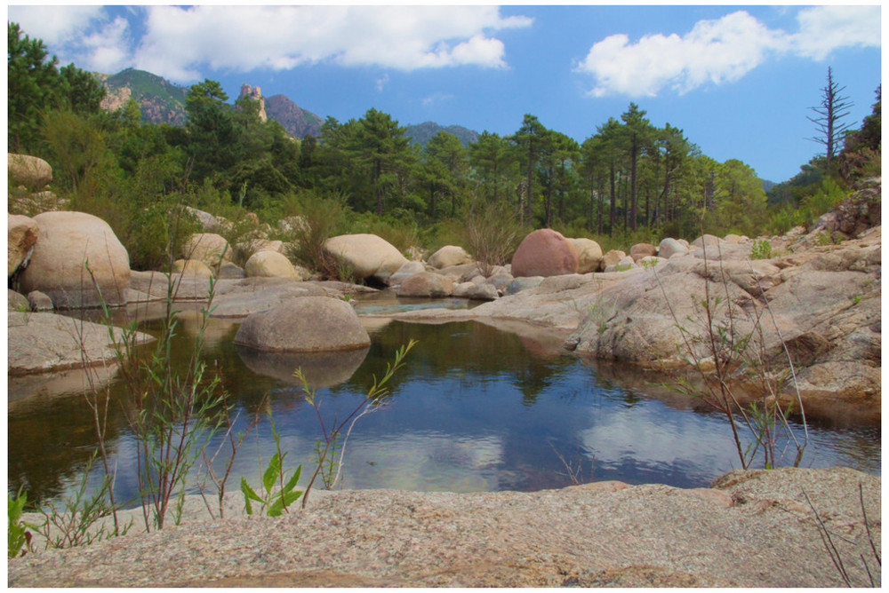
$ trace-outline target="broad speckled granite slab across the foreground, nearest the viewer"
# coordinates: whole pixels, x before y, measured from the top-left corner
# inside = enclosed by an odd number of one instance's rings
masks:
[[[842,587],[880,569],[880,478],[733,471],[710,488],[324,493],[281,518],[186,521],[8,563],[12,587]],[[805,494],[804,494],[805,493]],[[320,493],[319,493],[320,494]],[[313,499],[310,498],[310,501]]]

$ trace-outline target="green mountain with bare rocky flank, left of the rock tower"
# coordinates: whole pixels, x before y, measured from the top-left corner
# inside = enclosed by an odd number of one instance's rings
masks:
[[[177,86],[145,70],[127,68],[116,75],[95,75],[108,89],[102,108],[116,111],[129,99],[136,99],[142,121],[185,125],[185,98],[188,89]]]

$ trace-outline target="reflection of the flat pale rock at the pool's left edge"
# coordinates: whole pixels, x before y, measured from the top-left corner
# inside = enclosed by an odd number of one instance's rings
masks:
[[[48,399],[78,396],[89,391],[90,379],[95,390],[104,390],[117,372],[117,365],[70,368],[55,373],[7,376],[9,415],[27,412],[46,405]],[[88,375],[89,374],[89,375]]]

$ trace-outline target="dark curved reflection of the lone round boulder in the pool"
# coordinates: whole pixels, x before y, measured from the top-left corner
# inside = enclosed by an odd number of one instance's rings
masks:
[[[300,385],[293,371],[301,368],[308,386],[318,389],[348,381],[364,362],[370,346],[344,352],[261,352],[237,344],[235,349],[254,373]]]

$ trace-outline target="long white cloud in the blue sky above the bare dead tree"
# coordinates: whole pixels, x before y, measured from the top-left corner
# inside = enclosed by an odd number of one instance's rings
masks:
[[[593,75],[595,97],[622,94],[653,97],[665,88],[684,94],[705,84],[733,83],[765,59],[796,54],[825,59],[850,46],[879,46],[877,6],[819,6],[798,13],[799,31],[770,29],[748,12],[698,21],[685,36],[626,35],[595,43],[576,71]]]

